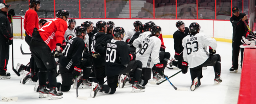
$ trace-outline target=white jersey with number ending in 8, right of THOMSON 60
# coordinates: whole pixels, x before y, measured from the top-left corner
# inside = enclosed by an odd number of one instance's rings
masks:
[[[138,45],[142,46],[142,49],[139,51]],[[133,46],[136,47],[136,60],[142,62],[143,68],[153,68],[154,64],[160,63],[159,60],[159,50],[161,47],[161,40],[150,35],[142,35],[133,41]]]

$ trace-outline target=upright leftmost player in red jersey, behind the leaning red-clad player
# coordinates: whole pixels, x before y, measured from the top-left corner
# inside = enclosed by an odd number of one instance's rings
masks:
[[[29,10],[26,11],[26,14],[24,16],[24,29],[25,29],[25,41],[30,46],[30,42],[32,39],[33,30],[36,27],[39,29],[39,20],[37,11],[41,7],[41,1],[40,0],[30,0],[29,1]],[[37,68],[37,64],[35,62],[35,59],[33,55],[31,55],[30,58],[30,64],[29,67],[31,69],[27,69],[26,72],[24,72],[24,75],[21,77],[21,83],[26,84],[26,82],[32,80],[34,82],[37,82],[37,74],[39,69]]]

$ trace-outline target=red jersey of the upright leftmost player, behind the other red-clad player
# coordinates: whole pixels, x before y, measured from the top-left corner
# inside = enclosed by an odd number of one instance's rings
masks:
[[[37,12],[29,9],[24,16],[24,29],[27,34],[32,37],[32,33],[35,27],[39,29]]]

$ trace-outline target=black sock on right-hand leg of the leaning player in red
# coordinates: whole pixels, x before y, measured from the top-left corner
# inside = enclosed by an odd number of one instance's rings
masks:
[[[47,78],[49,81],[49,87],[56,87],[56,83],[57,83],[57,79],[56,79],[56,71],[55,69],[48,69],[50,70],[49,72],[47,72]]]

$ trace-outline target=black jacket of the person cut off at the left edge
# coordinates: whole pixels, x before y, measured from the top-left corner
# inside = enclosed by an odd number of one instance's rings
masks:
[[[0,45],[5,45],[9,37],[12,36],[10,21],[7,13],[0,10]]]

